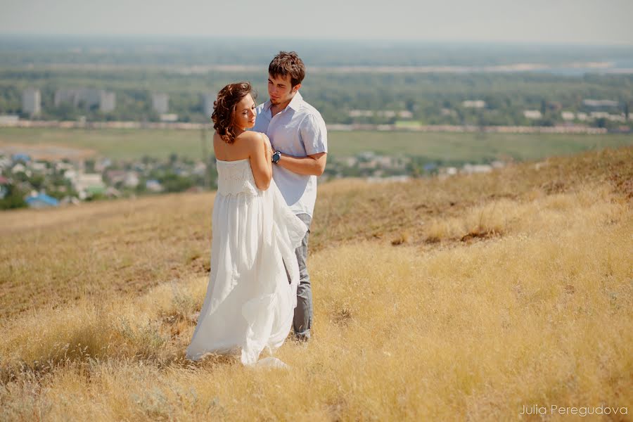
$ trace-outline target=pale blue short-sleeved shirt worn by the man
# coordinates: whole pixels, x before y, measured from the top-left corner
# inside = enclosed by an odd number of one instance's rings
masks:
[[[257,106],[255,132],[267,134],[274,151],[294,157],[328,152],[328,132],[321,113],[297,92],[286,108],[272,116],[271,102]],[[316,176],[305,176],[273,165],[273,179],[295,215],[312,217],[316,202]]]

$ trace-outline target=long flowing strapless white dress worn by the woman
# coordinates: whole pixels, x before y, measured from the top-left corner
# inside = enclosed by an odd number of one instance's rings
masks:
[[[235,354],[254,365],[290,332],[299,283],[295,248],[307,228],[274,180],[266,191],[257,188],[248,158],[217,160],[217,174],[209,285],[186,357]]]

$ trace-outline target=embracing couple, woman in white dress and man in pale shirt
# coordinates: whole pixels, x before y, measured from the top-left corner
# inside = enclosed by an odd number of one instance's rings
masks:
[[[299,94],[304,76],[297,54],[281,51],[268,67],[269,101],[256,107],[248,82],[217,95],[211,274],[188,359],[234,354],[253,365],[290,328],[310,338],[307,241],[327,132]]]

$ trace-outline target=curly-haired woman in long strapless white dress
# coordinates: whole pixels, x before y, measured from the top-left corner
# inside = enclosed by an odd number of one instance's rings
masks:
[[[295,248],[307,227],[272,179],[268,137],[247,131],[256,117],[250,84],[226,85],[214,106],[211,273],[186,357],[233,354],[253,365],[290,332],[299,283]]]

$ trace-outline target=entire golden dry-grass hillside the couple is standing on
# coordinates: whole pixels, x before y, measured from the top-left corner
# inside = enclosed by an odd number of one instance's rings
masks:
[[[633,148],[321,185],[288,370],[184,359],[212,202],[2,214],[0,420],[632,420]]]

